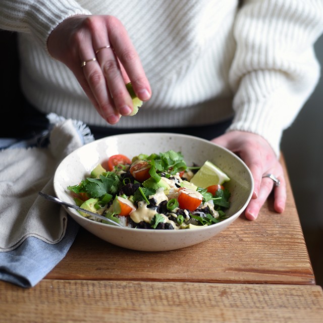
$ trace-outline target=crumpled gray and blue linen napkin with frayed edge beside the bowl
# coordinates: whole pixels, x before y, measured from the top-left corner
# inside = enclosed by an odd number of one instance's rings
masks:
[[[37,284],[65,256],[78,228],[38,192],[53,195],[60,161],[94,140],[80,121],[55,114],[48,119],[53,128],[47,147],[0,151],[0,279],[23,287]]]

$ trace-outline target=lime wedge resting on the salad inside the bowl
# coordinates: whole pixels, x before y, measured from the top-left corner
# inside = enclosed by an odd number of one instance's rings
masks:
[[[210,185],[222,185],[227,181],[230,181],[229,176],[219,167],[206,160],[201,168],[191,178],[190,183],[201,188],[206,188]]]

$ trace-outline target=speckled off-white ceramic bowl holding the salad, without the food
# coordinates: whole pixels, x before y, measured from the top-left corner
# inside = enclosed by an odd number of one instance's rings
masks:
[[[230,218],[199,229],[147,230],[107,225],[82,217],[76,210],[66,208],[83,228],[112,244],[134,250],[165,251],[188,247],[205,241],[227,228],[247,206],[253,192],[251,173],[234,153],[208,140],[173,133],[133,133],[110,136],[91,142],[69,154],[59,165],[54,177],[58,198],[74,203],[67,186],[79,183],[101,161],[114,154],[132,158],[139,153],[159,153],[173,149],[184,155],[190,166],[212,161],[231,178],[226,187],[231,192]]]

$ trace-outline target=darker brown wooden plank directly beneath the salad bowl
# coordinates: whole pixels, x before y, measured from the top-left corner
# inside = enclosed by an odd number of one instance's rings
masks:
[[[127,250],[81,229],[47,279],[315,284],[287,178],[287,205],[271,196],[256,221],[243,216],[198,245],[166,252]]]

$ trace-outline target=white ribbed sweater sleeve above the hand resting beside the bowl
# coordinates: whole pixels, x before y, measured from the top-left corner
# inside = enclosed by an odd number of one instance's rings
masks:
[[[230,70],[235,117],[230,130],[257,133],[277,155],[288,128],[314,90],[313,44],[323,28],[321,0],[245,0],[237,13]]]

